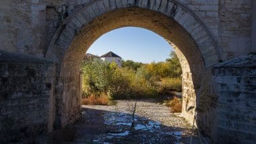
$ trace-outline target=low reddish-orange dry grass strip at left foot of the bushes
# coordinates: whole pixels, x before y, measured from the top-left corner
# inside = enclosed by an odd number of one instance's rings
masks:
[[[82,104],[84,105],[109,105],[110,100],[106,94],[101,94],[100,96],[95,96],[91,94],[90,96],[82,99]]]

